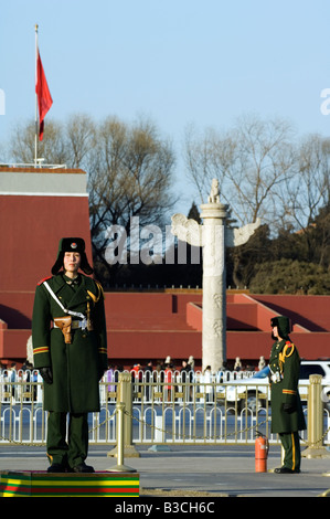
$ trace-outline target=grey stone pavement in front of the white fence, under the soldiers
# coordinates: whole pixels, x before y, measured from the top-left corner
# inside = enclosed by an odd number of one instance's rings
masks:
[[[139,457],[125,465],[140,475],[140,496],[214,497],[319,497],[330,489],[330,453],[323,458],[302,458],[301,474],[278,475],[280,447],[270,446],[267,473],[255,472],[254,446],[171,446],[167,451],[136,447]],[[87,463],[95,470],[115,468],[113,446],[89,447]],[[45,470],[45,449],[0,445],[0,470]]]

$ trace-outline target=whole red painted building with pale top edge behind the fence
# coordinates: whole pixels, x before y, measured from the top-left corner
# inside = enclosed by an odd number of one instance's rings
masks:
[[[86,173],[0,168],[0,361],[26,357],[36,283],[51,274],[63,236],[82,236],[92,261]],[[270,317],[288,315],[306,359],[329,357],[330,297],[227,293],[227,361],[269,357]],[[130,368],[167,356],[202,357],[202,292],[106,293],[109,362]]]

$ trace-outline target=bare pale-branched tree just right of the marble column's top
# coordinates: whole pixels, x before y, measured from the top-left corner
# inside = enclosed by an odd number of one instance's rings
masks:
[[[228,172],[231,206],[242,223],[277,219],[278,187],[294,174],[291,128],[283,120],[243,118],[234,129],[237,160]]]

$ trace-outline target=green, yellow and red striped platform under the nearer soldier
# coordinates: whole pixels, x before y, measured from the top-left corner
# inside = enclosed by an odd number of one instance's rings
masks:
[[[2,470],[0,497],[139,497],[139,474]]]

